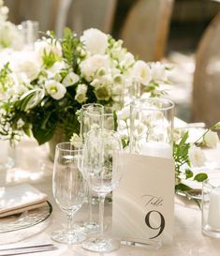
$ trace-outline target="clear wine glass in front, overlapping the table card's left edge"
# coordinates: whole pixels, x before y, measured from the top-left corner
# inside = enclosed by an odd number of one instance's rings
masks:
[[[122,143],[119,134],[112,130],[92,130],[88,133],[83,150],[83,165],[89,185],[99,197],[98,236],[86,240],[82,248],[96,252],[110,252],[120,247],[120,241],[104,236],[105,197],[117,187],[122,178]]]

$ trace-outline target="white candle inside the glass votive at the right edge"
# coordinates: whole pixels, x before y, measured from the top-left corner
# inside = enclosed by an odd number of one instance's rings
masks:
[[[210,193],[208,224],[213,229],[220,230],[220,187],[213,188]]]

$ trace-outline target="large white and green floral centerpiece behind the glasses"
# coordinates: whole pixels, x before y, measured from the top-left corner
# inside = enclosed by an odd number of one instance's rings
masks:
[[[160,94],[167,81],[162,64],[136,60],[122,40],[94,28],[81,37],[68,28],[62,39],[47,33],[33,52],[11,53],[0,67],[1,134],[11,141],[33,134],[39,144],[50,141],[57,128],[66,140],[79,133],[77,113],[84,103],[119,109],[134,79],[149,96]]]

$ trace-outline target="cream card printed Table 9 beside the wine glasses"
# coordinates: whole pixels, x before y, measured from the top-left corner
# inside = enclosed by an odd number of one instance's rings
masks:
[[[124,175],[113,192],[112,228],[121,237],[170,244],[174,218],[174,162],[125,153]]]

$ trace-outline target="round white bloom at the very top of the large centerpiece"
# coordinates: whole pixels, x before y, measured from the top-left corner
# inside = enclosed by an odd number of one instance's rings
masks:
[[[91,54],[105,54],[108,47],[107,35],[95,28],[85,30],[81,42]]]

